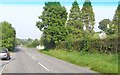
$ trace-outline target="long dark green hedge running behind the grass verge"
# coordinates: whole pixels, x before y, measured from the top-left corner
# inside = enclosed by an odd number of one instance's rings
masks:
[[[69,47],[69,45],[72,47]],[[108,37],[106,39],[76,40],[72,43],[64,41],[57,46],[57,49],[72,49],[85,52],[117,53],[120,52],[118,45],[118,37]]]

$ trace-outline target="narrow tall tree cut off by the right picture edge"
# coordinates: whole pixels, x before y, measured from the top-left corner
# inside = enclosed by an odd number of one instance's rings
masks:
[[[113,17],[113,25],[114,25],[115,33],[118,33],[119,32],[118,30],[120,30],[120,2],[118,3],[118,7]]]

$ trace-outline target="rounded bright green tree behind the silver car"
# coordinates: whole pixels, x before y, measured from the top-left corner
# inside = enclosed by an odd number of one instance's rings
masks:
[[[16,31],[6,21],[0,23],[0,48],[7,48],[12,51],[15,48]]]

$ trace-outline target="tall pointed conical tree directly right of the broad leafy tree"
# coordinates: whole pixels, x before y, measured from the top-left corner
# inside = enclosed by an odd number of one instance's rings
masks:
[[[67,22],[67,29],[69,36],[72,34],[72,38],[81,38],[83,25],[81,20],[81,12],[79,8],[79,4],[75,0],[72,4],[69,14],[69,20]]]

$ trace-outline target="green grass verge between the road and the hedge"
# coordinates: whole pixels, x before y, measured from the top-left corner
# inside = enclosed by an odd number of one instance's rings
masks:
[[[89,67],[100,73],[118,73],[118,54],[81,53],[66,50],[41,50],[40,52],[79,66]]]

